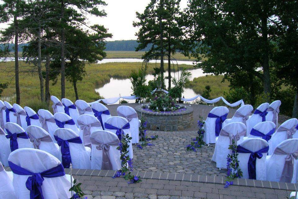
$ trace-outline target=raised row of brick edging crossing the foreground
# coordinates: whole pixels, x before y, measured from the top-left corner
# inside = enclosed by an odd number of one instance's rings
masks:
[[[4,167],[6,171],[11,171],[9,167]],[[101,176],[112,177],[116,171],[114,170],[97,170],[97,169],[72,169],[72,175],[84,175],[84,176]],[[70,169],[65,169],[65,174],[70,174]],[[178,174],[178,173],[162,173],[152,171],[132,171],[132,175],[140,176],[142,179],[157,179],[157,180],[177,180],[188,181],[197,183],[213,183],[213,184],[225,184],[225,179],[222,176],[208,176],[199,174]],[[296,190],[296,184],[293,183],[280,183],[263,180],[251,180],[251,179],[235,179],[233,185],[257,187],[257,188],[269,188],[280,190]]]

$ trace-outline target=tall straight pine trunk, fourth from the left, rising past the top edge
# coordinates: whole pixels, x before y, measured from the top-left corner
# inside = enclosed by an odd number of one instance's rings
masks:
[[[65,98],[65,62],[64,62],[64,45],[65,45],[65,31],[63,27],[64,22],[64,3],[61,1],[61,99]]]

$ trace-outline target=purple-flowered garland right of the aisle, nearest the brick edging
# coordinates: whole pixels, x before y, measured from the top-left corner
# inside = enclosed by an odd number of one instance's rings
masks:
[[[228,154],[227,157],[227,181],[224,188],[233,185],[233,179],[241,178],[242,171],[239,168],[238,153],[237,153],[237,141],[232,140],[232,144],[229,145],[229,149],[232,150],[232,154]]]

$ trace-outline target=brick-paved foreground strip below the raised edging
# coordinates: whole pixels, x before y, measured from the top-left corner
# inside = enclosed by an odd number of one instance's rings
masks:
[[[74,176],[88,199],[285,199],[291,191],[174,180],[143,179],[128,184],[124,178]]]

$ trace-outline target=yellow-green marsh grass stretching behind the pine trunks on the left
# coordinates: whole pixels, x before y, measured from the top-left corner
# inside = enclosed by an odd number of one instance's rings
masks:
[[[103,86],[110,81],[111,77],[128,78],[133,70],[138,70],[142,63],[104,63],[104,64],[86,64],[86,76],[77,83],[79,98],[87,102],[92,102],[100,98],[95,92],[95,88]],[[155,64],[148,64],[148,72],[153,72]],[[191,65],[179,65],[179,67],[193,68]],[[20,70],[25,71],[30,66],[25,62],[20,62]],[[11,72],[7,72],[11,71]],[[0,83],[9,82],[8,88],[1,95],[1,100],[15,103],[15,79],[14,79],[14,62],[0,62]],[[60,77],[55,85],[50,82],[50,94],[58,98],[61,96]],[[111,88],[112,89],[112,88]],[[118,93],[115,93],[118,96]],[[75,101],[75,93],[73,85],[65,81],[65,97]],[[20,102],[21,106],[29,106],[35,110],[47,108],[44,104],[40,104],[39,79],[37,73],[20,73]]]

